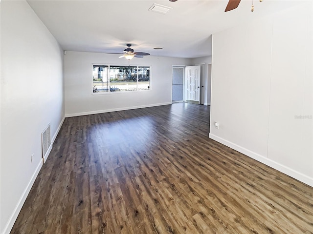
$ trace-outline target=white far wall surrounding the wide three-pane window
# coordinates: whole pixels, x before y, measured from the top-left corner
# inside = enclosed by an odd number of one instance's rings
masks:
[[[190,59],[153,57],[134,58],[130,65],[150,65],[150,90],[92,94],[92,63],[128,65],[119,55],[72,52],[65,55],[66,116],[79,116],[109,111],[172,103],[172,65],[188,65]]]

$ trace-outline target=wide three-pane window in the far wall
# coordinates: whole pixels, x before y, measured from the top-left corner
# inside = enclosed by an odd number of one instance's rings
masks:
[[[93,93],[150,89],[149,66],[93,65]]]

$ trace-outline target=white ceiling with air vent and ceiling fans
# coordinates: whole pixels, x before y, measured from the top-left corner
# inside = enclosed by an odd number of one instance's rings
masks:
[[[28,0],[64,50],[122,53],[127,43],[152,56],[210,56],[210,35],[283,8],[291,0],[242,0],[224,12],[228,0]],[[172,7],[167,14],[148,11],[153,3]],[[154,47],[163,47],[154,50]]]

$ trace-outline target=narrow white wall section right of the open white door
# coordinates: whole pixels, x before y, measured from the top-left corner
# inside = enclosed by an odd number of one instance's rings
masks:
[[[199,65],[201,64],[201,76],[203,75],[204,79],[204,105],[210,105],[211,104],[211,66],[212,64],[212,57],[206,56],[206,57],[200,57],[200,58],[194,58],[191,59],[192,65]]]

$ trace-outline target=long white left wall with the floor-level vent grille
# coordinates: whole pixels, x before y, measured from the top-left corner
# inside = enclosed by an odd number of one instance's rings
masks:
[[[7,234],[43,164],[41,133],[50,122],[55,137],[65,116],[63,51],[26,1],[1,1],[0,41],[0,233]]]

